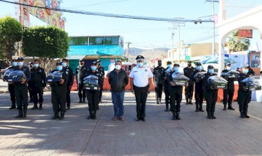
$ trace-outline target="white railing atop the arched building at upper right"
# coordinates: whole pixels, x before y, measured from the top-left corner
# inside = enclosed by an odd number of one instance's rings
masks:
[[[262,0],[225,0],[225,19],[262,5]]]

